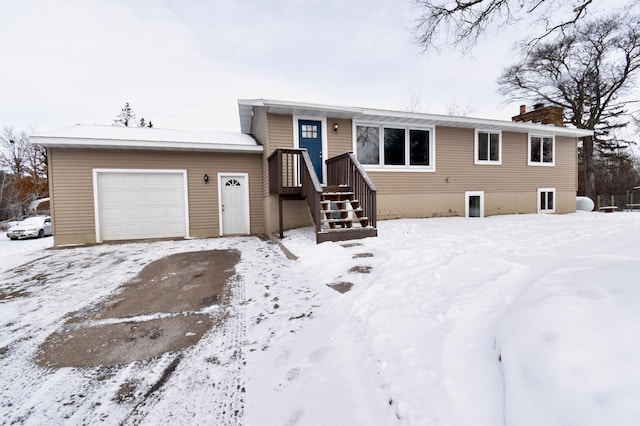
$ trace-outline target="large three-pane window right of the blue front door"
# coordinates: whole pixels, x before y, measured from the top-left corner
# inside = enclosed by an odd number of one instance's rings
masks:
[[[433,129],[356,124],[358,161],[380,169],[435,170]]]

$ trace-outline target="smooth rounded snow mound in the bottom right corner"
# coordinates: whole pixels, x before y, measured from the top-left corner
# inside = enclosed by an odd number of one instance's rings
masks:
[[[502,318],[507,424],[640,419],[639,237],[608,239],[552,262]]]

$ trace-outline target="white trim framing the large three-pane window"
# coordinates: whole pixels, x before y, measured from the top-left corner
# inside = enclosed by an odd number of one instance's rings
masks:
[[[372,172],[421,172],[421,173],[433,173],[436,171],[436,128],[435,126],[413,126],[411,124],[404,123],[385,123],[385,122],[366,122],[366,121],[354,121],[351,129],[352,132],[352,145],[353,152],[358,156],[358,126],[370,126],[370,127],[378,127],[380,129],[379,132],[379,155],[380,164],[362,164],[362,167],[366,171]],[[411,152],[409,147],[405,150],[405,165],[397,166],[397,165],[386,165],[384,164],[384,128],[390,129],[404,129],[405,130],[405,144],[408,145],[409,140],[409,130],[427,130],[429,132],[429,159],[431,160],[431,164],[429,166],[411,166],[409,165]]]

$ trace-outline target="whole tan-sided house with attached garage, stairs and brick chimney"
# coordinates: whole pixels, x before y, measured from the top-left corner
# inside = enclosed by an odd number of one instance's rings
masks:
[[[512,121],[252,99],[240,133],[72,126],[48,148],[56,245],[315,226],[377,235],[380,219],[569,213],[577,140],[562,110]],[[555,124],[554,124],[555,123]]]

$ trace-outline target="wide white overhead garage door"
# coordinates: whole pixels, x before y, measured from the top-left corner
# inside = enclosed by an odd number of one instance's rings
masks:
[[[187,236],[185,172],[96,173],[100,240]]]

